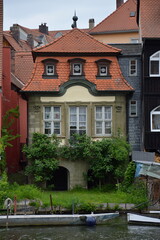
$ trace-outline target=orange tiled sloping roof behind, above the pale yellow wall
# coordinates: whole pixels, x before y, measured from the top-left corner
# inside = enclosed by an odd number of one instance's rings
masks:
[[[148,1],[148,0],[147,0]],[[90,34],[138,31],[136,22],[137,0],[128,0],[116,11],[90,30]],[[130,14],[135,13],[135,16]]]

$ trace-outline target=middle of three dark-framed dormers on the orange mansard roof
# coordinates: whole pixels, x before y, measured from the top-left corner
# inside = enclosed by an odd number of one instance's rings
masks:
[[[82,58],[74,58],[68,60],[70,63],[70,79],[73,78],[84,78],[84,63],[85,60]]]

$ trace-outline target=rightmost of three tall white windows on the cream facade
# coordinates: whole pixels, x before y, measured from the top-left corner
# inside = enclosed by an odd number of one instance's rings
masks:
[[[112,107],[95,107],[95,135],[110,136],[112,133]]]

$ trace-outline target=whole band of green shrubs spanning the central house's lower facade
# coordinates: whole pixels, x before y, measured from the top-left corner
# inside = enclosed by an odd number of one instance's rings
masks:
[[[130,146],[122,137],[94,141],[86,135],[77,134],[69,140],[68,145],[60,146],[56,137],[34,133],[32,144],[25,146],[23,151],[30,160],[26,172],[33,175],[37,182],[50,180],[61,158],[87,161],[94,178],[103,183],[108,176],[114,181],[123,180]]]

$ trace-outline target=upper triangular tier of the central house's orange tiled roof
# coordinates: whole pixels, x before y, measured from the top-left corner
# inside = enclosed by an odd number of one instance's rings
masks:
[[[103,44],[84,31],[74,28],[52,43],[37,48],[40,53],[119,53],[120,49]]]

